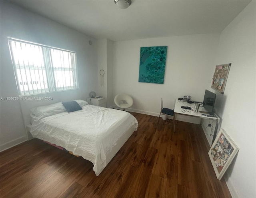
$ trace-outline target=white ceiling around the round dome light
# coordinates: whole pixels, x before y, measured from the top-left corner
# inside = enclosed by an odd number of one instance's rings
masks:
[[[93,38],[113,41],[221,32],[251,0],[11,1]]]

